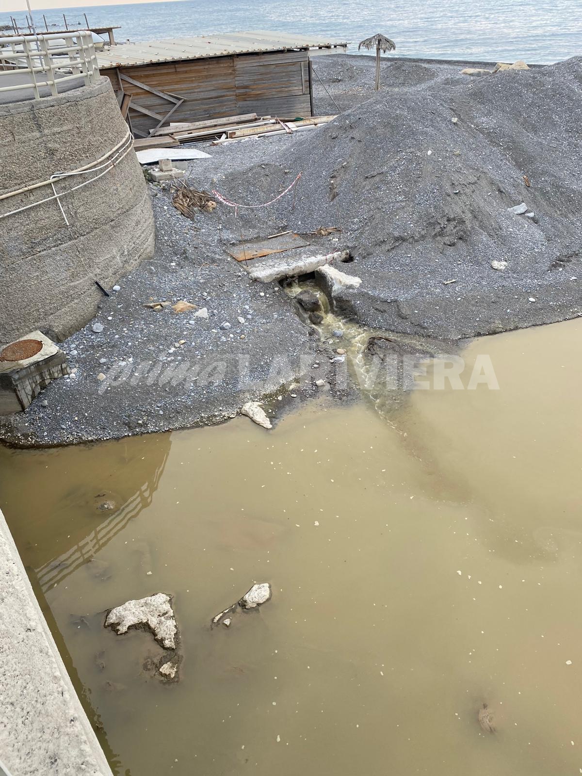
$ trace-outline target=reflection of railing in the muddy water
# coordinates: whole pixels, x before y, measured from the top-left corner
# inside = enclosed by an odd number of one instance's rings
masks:
[[[158,489],[158,482],[161,473],[164,471],[167,457],[168,453],[165,454],[163,462],[156,469],[152,484],[147,482],[142,485],[140,490],[137,490],[123,504],[122,508],[102,521],[102,523],[99,523],[92,533],[85,536],[85,539],[82,539],[81,542],[78,542],[76,546],[66,553],[57,556],[57,558],[48,561],[35,570],[36,579],[43,593],[46,593],[50,587],[60,584],[69,574],[77,570],[83,563],[86,563],[88,559],[94,557],[116,534],[123,531],[123,528],[126,527],[131,519],[136,518],[142,509],[151,504],[151,499]]]

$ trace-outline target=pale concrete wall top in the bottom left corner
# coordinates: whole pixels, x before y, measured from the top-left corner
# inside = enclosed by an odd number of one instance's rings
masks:
[[[0,511],[0,773],[113,776]]]

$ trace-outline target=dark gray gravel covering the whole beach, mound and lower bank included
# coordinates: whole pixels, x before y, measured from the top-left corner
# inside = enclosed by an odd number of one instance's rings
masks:
[[[302,171],[296,197],[238,219],[219,205],[193,223],[167,187],[151,185],[154,260],[103,300],[101,333],[89,323],[64,342],[74,377],[0,420],[5,441],[54,445],[185,428],[230,417],[250,398],[267,395],[272,414],[316,392],[332,348],[278,284],[251,282],[227,255],[241,237],[341,227],[339,241],[313,238],[303,251],[350,248],[355,260],[341,269],[362,284],[342,307],[388,331],[451,341],[582,312],[580,58],[478,79],[460,75],[461,65],[386,61],[378,95],[371,57],[315,64],[345,109],[337,120],[290,138],[205,144],[212,158],[190,165],[197,188],[217,187],[241,203],[272,199]],[[317,83],[316,111],[330,113]],[[508,210],[521,202],[535,217]],[[500,272],[491,261],[508,265]],[[152,298],[187,300],[209,317],[155,313],[144,307]],[[302,369],[304,386],[282,389]]]

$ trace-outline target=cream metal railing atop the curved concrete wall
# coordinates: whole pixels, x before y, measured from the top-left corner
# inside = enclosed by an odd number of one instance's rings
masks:
[[[28,78],[16,78],[17,83],[2,85],[2,81],[14,81],[15,74]],[[88,30],[0,37],[0,93],[32,89],[34,97],[40,99],[44,96],[40,88],[48,87],[51,95],[57,95],[59,85],[74,78],[83,78],[85,86],[99,78],[93,36]]]

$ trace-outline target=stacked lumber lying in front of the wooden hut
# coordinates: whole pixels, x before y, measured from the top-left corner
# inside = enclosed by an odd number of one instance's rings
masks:
[[[314,116],[309,119],[281,119],[277,116],[258,116],[244,113],[239,116],[224,116],[220,119],[170,123],[151,130],[151,136],[135,140],[137,149],[171,147],[181,143],[204,143],[214,145],[234,143],[248,137],[265,137],[272,134],[293,134],[314,129],[333,120],[335,116]]]

